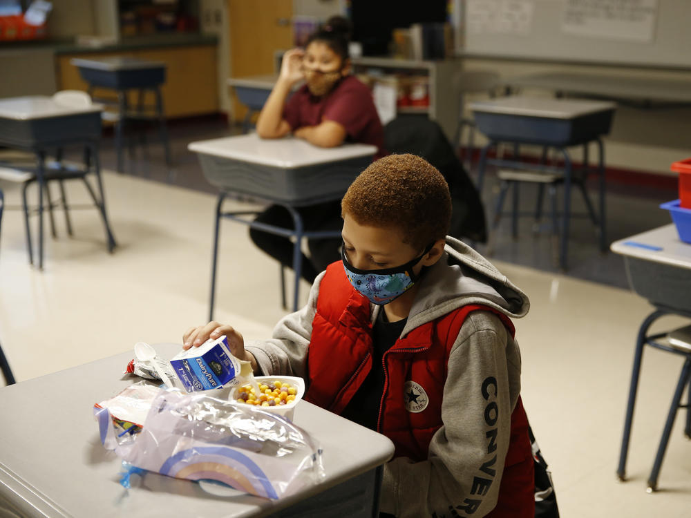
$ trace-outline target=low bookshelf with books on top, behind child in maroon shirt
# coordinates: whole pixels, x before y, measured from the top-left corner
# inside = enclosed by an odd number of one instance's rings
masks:
[[[399,106],[397,113],[428,115],[442,126],[449,140],[455,135],[459,117],[459,93],[454,75],[462,68],[460,59],[412,61],[386,57],[352,58],[353,73],[371,79],[379,77],[426,78],[429,102],[426,106]]]

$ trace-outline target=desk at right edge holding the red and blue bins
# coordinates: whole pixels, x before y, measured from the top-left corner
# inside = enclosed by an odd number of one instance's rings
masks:
[[[616,471],[619,479],[624,480],[626,477],[626,458],[645,345],[685,358],[655,461],[647,480],[648,491],[652,492],[657,489],[660,468],[672,432],[672,425],[674,425],[674,418],[680,407],[681,395],[685,387],[690,385],[691,349],[665,343],[667,331],[654,334],[648,334],[648,331],[656,320],[666,315],[691,318],[691,244],[681,241],[674,224],[668,224],[630,238],[618,240],[612,243],[611,248],[612,251],[624,257],[626,274],[631,288],[638,295],[647,298],[655,307],[638,329],[621,453]],[[691,438],[691,407],[687,407],[684,432],[687,438]]]

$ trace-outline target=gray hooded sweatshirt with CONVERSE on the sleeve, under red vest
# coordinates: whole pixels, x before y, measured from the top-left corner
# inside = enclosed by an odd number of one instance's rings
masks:
[[[447,237],[444,252],[419,280],[401,336],[464,305],[486,305],[510,318],[527,314],[529,301],[523,291],[471,247]],[[307,349],[323,275],[314,281],[307,305],[276,325],[272,340],[247,343],[247,350],[254,354],[264,374],[308,378]],[[374,323],[381,307],[371,305],[370,309]],[[482,517],[495,507],[509,449],[511,412],[520,394],[520,367],[518,344],[500,318],[489,311],[469,314],[448,356],[442,401],[444,424],[430,442],[427,460],[413,462],[397,457],[386,463],[381,512],[399,518]],[[498,412],[493,425],[496,450],[492,445],[491,454],[485,416],[488,400],[482,394],[483,382],[488,378],[497,381],[494,401]],[[494,396],[493,387],[491,391]],[[475,477],[492,478],[480,468],[495,455],[492,467],[496,474],[489,488],[478,488]],[[468,501],[473,505],[468,506]]]

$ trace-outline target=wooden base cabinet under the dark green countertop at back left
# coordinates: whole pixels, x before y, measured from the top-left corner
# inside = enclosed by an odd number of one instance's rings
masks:
[[[59,54],[55,57],[56,83],[60,90],[84,90],[88,85],[79,76],[79,70],[70,59],[108,56],[138,57],[150,61],[163,61],[166,82],[162,87],[166,117],[189,117],[218,112],[218,77],[216,46],[184,46],[175,48],[146,48],[124,52],[82,52]],[[96,90],[98,97],[113,97],[106,90]],[[149,94],[148,94],[149,95]],[[130,99],[135,102],[135,97]],[[153,104],[153,95],[144,99]]]

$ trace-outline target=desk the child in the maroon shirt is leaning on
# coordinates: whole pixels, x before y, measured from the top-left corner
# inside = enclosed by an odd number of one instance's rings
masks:
[[[302,239],[336,238],[341,236],[341,230],[305,231],[302,218],[295,208],[343,198],[355,177],[372,162],[377,147],[343,144],[335,148],[320,148],[293,137],[262,140],[252,133],[192,142],[188,148],[197,153],[209,183],[221,189],[216,204],[209,320],[213,320],[214,315],[218,228],[222,217],[278,236],[295,238],[293,309],[296,311]],[[292,215],[294,229],[283,229],[241,217],[256,215],[254,211],[223,212],[223,200],[228,193],[245,194],[283,205]]]

